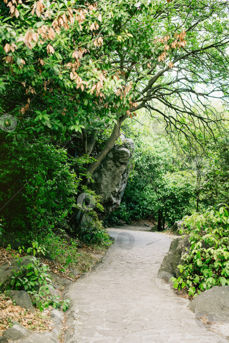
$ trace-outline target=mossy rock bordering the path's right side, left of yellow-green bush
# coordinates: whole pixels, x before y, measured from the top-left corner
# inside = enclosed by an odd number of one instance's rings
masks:
[[[161,267],[158,271],[157,277],[163,279],[170,279],[172,276],[180,276],[178,265],[184,264],[181,256],[190,248],[188,236],[184,238],[176,238],[171,242],[169,252],[165,255]],[[168,280],[167,280],[168,281]]]

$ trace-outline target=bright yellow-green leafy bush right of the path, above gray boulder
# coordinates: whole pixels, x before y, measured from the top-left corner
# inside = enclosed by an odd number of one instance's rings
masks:
[[[229,214],[226,206],[194,212],[184,218],[181,233],[189,235],[190,251],[179,265],[181,276],[173,277],[174,288],[186,287],[189,295],[215,285],[229,285]]]

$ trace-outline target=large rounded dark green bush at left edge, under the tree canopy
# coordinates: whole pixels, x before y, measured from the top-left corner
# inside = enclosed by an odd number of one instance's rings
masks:
[[[79,180],[71,172],[66,150],[41,140],[0,146],[1,204],[7,227],[32,230],[67,226]]]

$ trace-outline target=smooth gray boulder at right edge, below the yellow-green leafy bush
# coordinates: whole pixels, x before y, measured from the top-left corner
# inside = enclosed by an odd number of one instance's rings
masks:
[[[188,306],[197,318],[229,323],[229,286],[214,286],[198,294]]]

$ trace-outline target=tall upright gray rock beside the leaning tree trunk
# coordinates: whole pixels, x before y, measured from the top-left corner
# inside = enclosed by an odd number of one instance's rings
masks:
[[[101,196],[106,215],[119,207],[131,169],[133,141],[123,135],[121,140],[123,144],[113,147],[93,174],[91,187]]]

